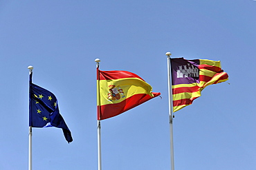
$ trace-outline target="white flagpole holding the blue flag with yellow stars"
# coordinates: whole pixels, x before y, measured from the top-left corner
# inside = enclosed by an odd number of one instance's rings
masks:
[[[31,104],[30,104],[30,94],[31,94],[31,83],[32,83],[32,74],[33,74],[33,66],[30,65],[28,66],[29,69],[29,114],[31,111]],[[31,117],[29,115],[29,121]],[[31,123],[29,123],[29,135],[28,135],[28,170],[32,170],[32,126]]]

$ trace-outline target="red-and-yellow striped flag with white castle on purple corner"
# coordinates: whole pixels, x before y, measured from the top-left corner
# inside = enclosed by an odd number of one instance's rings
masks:
[[[191,105],[208,85],[228,80],[220,61],[171,59],[173,112]]]

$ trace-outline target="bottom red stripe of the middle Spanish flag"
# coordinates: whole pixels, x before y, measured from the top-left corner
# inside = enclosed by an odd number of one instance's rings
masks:
[[[154,97],[160,95],[160,93],[152,94],[154,94]],[[120,103],[98,106],[98,120],[104,120],[122,114],[154,97],[151,97],[148,94],[135,94]]]

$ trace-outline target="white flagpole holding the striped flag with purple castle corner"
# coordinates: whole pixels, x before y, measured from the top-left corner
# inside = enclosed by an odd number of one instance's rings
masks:
[[[169,92],[169,116],[170,116],[170,147],[171,147],[171,167],[174,170],[174,138],[173,138],[173,127],[172,127],[172,79],[171,79],[171,58],[170,52],[167,52],[167,70],[168,70],[168,92]]]

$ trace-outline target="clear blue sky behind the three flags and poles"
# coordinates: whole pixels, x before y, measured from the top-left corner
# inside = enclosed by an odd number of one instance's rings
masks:
[[[255,170],[256,1],[0,1],[0,169],[28,169],[28,65],[71,129],[33,128],[33,169],[98,169],[96,66],[154,98],[102,120],[102,170],[170,163],[167,56],[221,61],[228,83],[174,113],[177,170]]]

